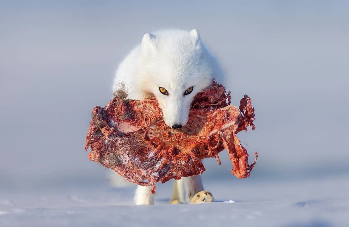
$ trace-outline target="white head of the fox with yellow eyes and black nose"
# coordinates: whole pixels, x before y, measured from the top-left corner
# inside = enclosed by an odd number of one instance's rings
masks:
[[[158,100],[165,123],[181,128],[188,122],[194,96],[219,76],[217,61],[196,29],[146,33],[140,51],[140,83]]]

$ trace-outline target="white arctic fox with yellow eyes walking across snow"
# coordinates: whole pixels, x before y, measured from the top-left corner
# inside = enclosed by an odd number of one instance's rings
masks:
[[[130,99],[155,96],[164,122],[178,129],[188,121],[195,94],[207,88],[213,78],[221,77],[217,60],[202,43],[198,30],[158,30],[145,33],[141,44],[120,63],[113,91],[124,83]],[[201,176],[191,176],[174,181],[170,203],[185,202],[184,184],[187,202],[214,202],[212,194],[204,191]],[[154,204],[151,188],[138,186],[136,205]]]

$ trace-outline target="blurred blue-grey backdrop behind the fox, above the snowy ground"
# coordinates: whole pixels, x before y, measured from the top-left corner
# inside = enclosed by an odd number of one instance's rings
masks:
[[[199,30],[256,129],[238,137],[251,177],[205,160],[207,181],[267,182],[349,174],[348,1],[1,1],[0,192],[108,185],[84,140],[91,110],[145,32]]]

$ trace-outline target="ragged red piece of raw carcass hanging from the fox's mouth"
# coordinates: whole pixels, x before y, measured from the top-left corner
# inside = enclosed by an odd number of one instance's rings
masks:
[[[250,176],[256,163],[248,164],[247,150],[236,137],[239,131],[255,128],[254,108],[247,95],[240,107],[230,105],[230,92],[213,82],[195,96],[188,123],[181,129],[168,127],[155,98],[112,99],[95,107],[86,136],[89,159],[116,171],[142,186],[198,175],[205,171],[201,159],[215,157],[227,149],[232,174]]]

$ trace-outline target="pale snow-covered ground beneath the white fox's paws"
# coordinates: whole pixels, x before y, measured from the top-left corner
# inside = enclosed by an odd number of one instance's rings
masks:
[[[171,182],[154,206],[134,206],[134,187],[1,192],[0,226],[347,226],[349,178],[206,182],[215,203],[169,205]]]

